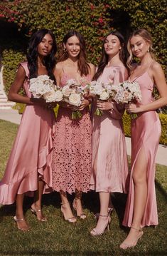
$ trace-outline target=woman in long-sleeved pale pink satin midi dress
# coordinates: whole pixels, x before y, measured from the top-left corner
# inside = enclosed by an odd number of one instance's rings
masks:
[[[113,31],[102,46],[102,58],[95,73],[95,80],[118,85],[126,80],[124,66],[124,37]],[[96,107],[96,106],[95,106]],[[114,102],[99,102],[102,116],[93,116],[92,127],[92,176],[90,189],[99,192],[100,212],[91,235],[102,235],[109,226],[111,206],[110,193],[126,193],[128,162],[122,126],[124,109]],[[110,206],[110,208],[109,208]]]

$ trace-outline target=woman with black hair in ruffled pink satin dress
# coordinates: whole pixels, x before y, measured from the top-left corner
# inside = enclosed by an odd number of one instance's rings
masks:
[[[56,49],[52,31],[41,29],[33,34],[28,48],[28,62],[18,66],[16,78],[9,91],[9,100],[26,103],[26,109],[0,183],[0,204],[10,205],[16,200],[14,220],[18,229],[23,231],[29,230],[23,215],[24,194],[31,195],[35,191],[31,211],[38,220],[45,221],[41,198],[43,193],[52,191],[51,162],[55,116],[44,100],[32,97],[28,88],[30,78],[45,74],[54,80]],[[18,94],[22,86],[26,96]]]

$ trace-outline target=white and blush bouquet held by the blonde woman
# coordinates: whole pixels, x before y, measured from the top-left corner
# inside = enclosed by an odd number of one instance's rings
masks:
[[[132,102],[141,102],[141,90],[139,87],[139,83],[124,81],[123,83],[119,83],[118,91],[116,96],[114,97],[114,101],[117,103],[132,103]],[[131,114],[131,118],[136,118],[137,115],[135,113]]]

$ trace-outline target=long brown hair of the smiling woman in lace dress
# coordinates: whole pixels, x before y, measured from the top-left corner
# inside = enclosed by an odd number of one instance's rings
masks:
[[[86,61],[86,45],[85,45],[85,39],[83,36],[75,31],[70,30],[68,34],[66,34],[63,38],[62,42],[62,49],[60,50],[58,61],[65,61],[68,58],[67,51],[64,50],[63,44],[67,43],[68,39],[72,36],[77,36],[77,39],[80,41],[80,53],[78,55],[78,70],[80,71],[80,75],[85,75],[89,73],[90,65]]]

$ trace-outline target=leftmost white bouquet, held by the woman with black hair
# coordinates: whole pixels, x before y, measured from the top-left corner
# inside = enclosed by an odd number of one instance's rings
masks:
[[[46,102],[63,100],[61,89],[56,87],[54,81],[47,75],[31,78],[29,91],[34,98],[44,98]]]

